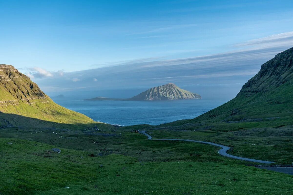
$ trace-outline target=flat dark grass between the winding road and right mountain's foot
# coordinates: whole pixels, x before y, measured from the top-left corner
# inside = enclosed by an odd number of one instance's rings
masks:
[[[178,138],[210,141],[229,146],[231,153],[235,156],[254,158],[258,160],[275,161],[277,164],[292,164],[293,144],[292,131],[290,128],[281,127],[271,130],[270,128],[259,128],[256,130],[239,130],[236,132],[221,131],[178,131],[178,130],[149,130],[154,138]],[[289,130],[288,130],[289,129]],[[287,135],[284,132],[288,132]]]

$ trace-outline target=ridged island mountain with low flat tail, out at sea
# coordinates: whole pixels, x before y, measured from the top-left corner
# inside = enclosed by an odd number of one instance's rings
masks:
[[[174,83],[168,83],[159,87],[152,87],[132,98],[105,98],[96,97],[85,100],[122,100],[122,101],[157,101],[157,100],[179,100],[179,99],[201,99],[199,94],[180,89]]]

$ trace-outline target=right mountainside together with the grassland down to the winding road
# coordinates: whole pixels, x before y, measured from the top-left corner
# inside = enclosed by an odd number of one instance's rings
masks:
[[[156,138],[231,146],[236,156],[293,161],[293,48],[264,63],[231,101],[194,119],[151,127]]]

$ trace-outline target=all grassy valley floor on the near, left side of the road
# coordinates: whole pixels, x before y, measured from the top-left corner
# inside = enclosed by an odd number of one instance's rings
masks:
[[[292,176],[247,167],[213,146],[119,129],[54,132],[1,130],[1,195],[293,194]]]

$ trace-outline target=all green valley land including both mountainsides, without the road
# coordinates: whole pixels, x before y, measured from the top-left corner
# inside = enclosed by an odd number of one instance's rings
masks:
[[[27,87],[34,84],[26,77],[7,77],[21,76],[8,67],[1,77],[1,195],[292,194],[292,175],[253,166],[292,164],[292,57],[293,49],[277,54],[234,99],[197,118],[125,127],[53,103]],[[8,85],[27,91],[13,95]],[[41,100],[31,95],[36,89]],[[217,146],[240,158],[221,156]]]

